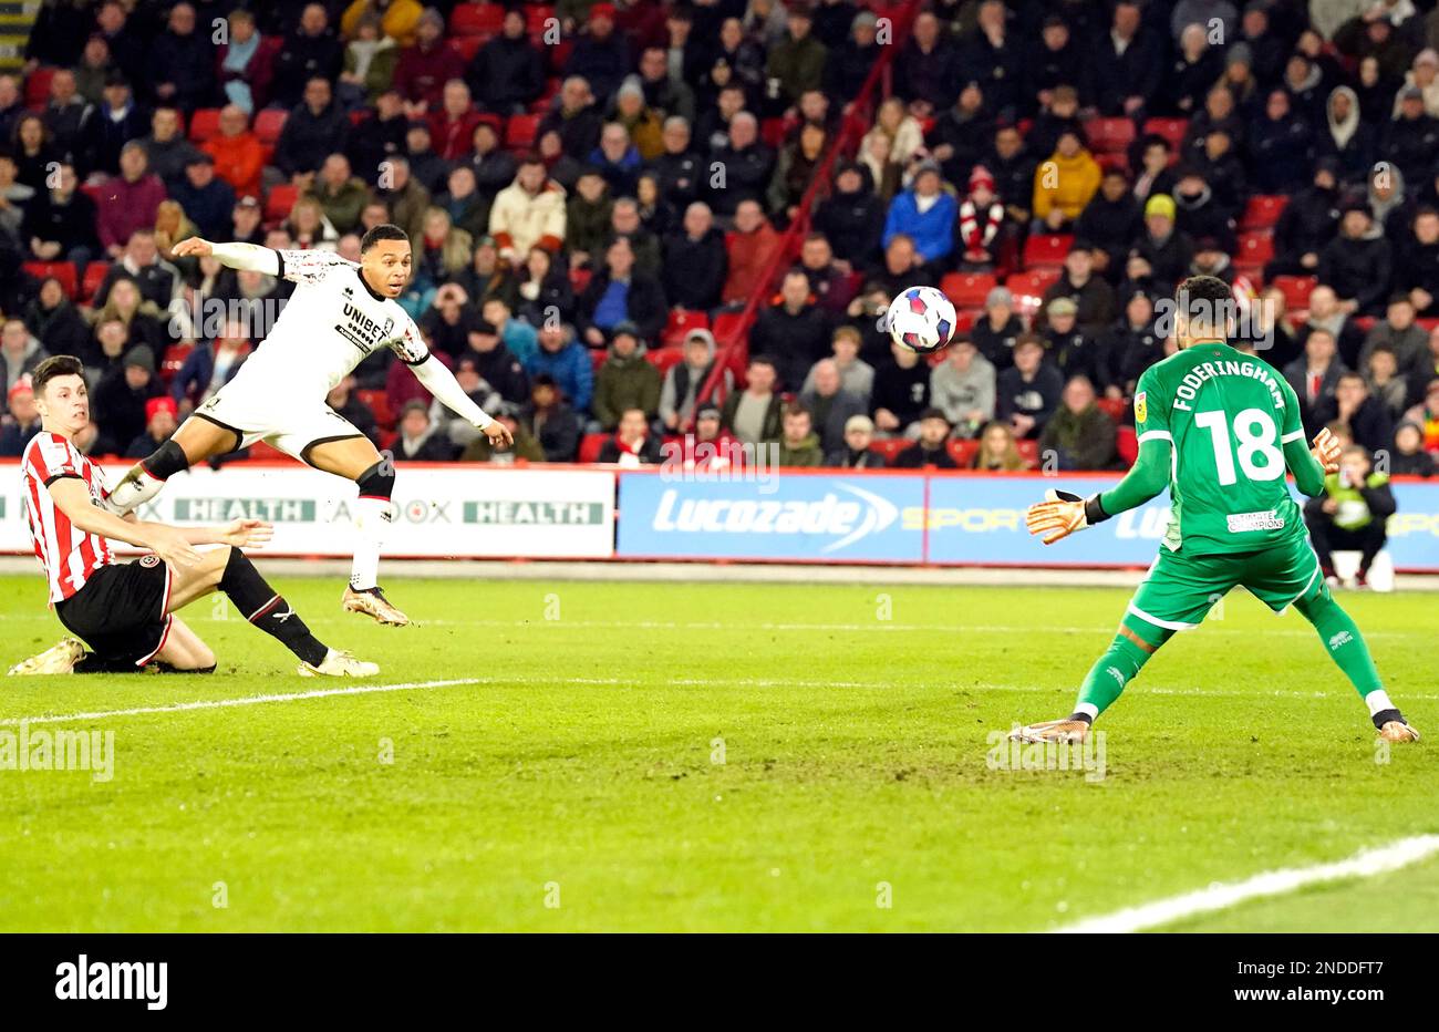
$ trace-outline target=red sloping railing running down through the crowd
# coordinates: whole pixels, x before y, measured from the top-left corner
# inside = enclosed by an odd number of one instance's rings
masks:
[[[750,347],[750,330],[758,318],[760,305],[771,295],[780,273],[789,268],[794,255],[799,253],[799,245],[809,233],[810,213],[814,206],[814,200],[819,197],[820,190],[827,189],[830,173],[833,171],[839,155],[848,153],[846,148],[858,148],[859,138],[869,130],[869,125],[872,124],[869,112],[873,108],[876,91],[879,91],[881,83],[884,83],[884,92],[889,92],[891,65],[899,53],[899,49],[908,40],[909,26],[914,24],[914,19],[920,14],[921,6],[922,0],[907,0],[901,6],[879,12],[885,17],[891,19],[891,43],[881,49],[879,58],[875,60],[875,66],[869,69],[869,76],[865,79],[865,85],[861,88],[855,99],[846,107],[845,117],[840,121],[839,132],[835,135],[835,141],[830,144],[825,158],[814,168],[814,176],[810,178],[810,184],[804,190],[804,196],[800,199],[797,206],[799,212],[790,222],[789,229],[784,230],[784,235],[780,237],[780,246],[774,250],[774,258],[770,259],[764,273],[760,276],[761,288],[751,294],[750,299],[745,301],[740,318],[731,325],[728,332],[725,332],[725,338],[715,341],[718,345],[718,357],[714,368],[709,370],[709,377],[699,389],[696,396],[698,400],[708,402],[714,397],[715,390],[718,390],[720,384],[724,381],[724,371],[727,368],[735,373],[737,380],[744,374],[744,361]],[[698,409],[698,404],[695,407]],[[691,419],[685,423],[684,429],[688,432],[692,425],[694,416],[691,416]]]

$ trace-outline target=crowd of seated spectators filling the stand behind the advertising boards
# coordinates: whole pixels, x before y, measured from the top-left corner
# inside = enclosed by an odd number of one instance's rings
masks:
[[[692,430],[797,466],[1122,468],[1157,305],[1207,272],[1311,432],[1429,475],[1432,9],[46,0],[0,75],[0,455],[46,354],[83,360],[96,455],[235,374],[292,286],[178,240],[354,259],[394,222],[406,309],[515,432],[492,453],[378,353],[330,403],[401,459],[655,462]],[[914,284],[960,312],[934,361],[879,320]]]

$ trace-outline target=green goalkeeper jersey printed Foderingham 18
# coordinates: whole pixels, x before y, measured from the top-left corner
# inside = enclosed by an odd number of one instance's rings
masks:
[[[1255,551],[1302,538],[1284,446],[1302,440],[1299,399],[1269,364],[1209,341],[1151,366],[1134,393],[1140,443],[1168,440],[1164,547]]]

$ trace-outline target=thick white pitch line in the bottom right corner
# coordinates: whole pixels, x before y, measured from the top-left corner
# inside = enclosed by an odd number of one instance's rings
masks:
[[[1439,854],[1439,835],[1415,835],[1389,845],[1364,849],[1344,861],[1265,871],[1239,882],[1215,882],[1207,888],[1168,900],[1157,900],[1143,907],[1130,907],[1114,914],[1085,918],[1063,928],[1055,928],[1055,931],[1062,934],[1144,931],[1196,914],[1227,910],[1249,900],[1285,895],[1305,885],[1338,881],[1340,878],[1373,878],[1417,864],[1435,854]]]

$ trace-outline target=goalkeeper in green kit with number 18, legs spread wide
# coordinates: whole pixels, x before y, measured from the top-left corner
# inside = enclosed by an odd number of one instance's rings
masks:
[[[1158,558],[1079,688],[1075,711],[1010,737],[1084,741],[1095,717],[1176,630],[1197,628],[1216,600],[1242,584],[1274,612],[1294,606],[1314,625],[1380,735],[1417,741],[1384,692],[1363,635],[1330,594],[1285,482],[1289,469],[1299,491],[1321,495],[1325,474],[1338,468],[1338,442],[1321,430],[1311,452],[1294,389],[1271,366],[1229,345],[1229,285],[1190,276],[1176,302],[1180,350],[1151,366],[1134,393],[1134,468],[1109,491],[1086,499],[1049,491],[1026,512],[1029,533],[1053,544],[1168,486],[1171,515]]]

